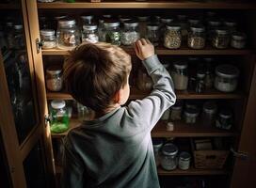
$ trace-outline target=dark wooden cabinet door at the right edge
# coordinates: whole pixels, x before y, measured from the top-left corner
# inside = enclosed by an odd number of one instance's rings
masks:
[[[241,133],[232,174],[232,188],[254,188],[256,185],[256,66],[248,96],[247,114]]]

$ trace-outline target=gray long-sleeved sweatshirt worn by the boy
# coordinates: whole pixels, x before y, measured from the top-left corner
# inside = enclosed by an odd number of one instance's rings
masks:
[[[151,131],[176,96],[156,55],[142,61],[153,89],[101,118],[84,121],[64,141],[62,187],[158,188]]]

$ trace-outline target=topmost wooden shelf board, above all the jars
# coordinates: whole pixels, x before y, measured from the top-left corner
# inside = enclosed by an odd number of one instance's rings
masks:
[[[45,9],[60,9],[60,8],[184,8],[184,9],[255,9],[255,3],[237,3],[232,1],[227,2],[190,2],[190,1],[157,1],[149,0],[147,2],[135,1],[109,1],[104,0],[101,3],[90,3],[76,0],[76,3],[63,3],[57,1],[55,3],[38,3],[38,8]]]

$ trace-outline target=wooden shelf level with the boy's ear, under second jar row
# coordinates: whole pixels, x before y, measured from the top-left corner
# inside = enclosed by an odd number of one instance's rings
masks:
[[[242,93],[223,93],[216,89],[207,90],[204,93],[196,93],[194,91],[175,91],[177,99],[183,100],[212,100],[212,99],[242,99]],[[148,96],[149,92],[141,92],[136,88],[131,89],[130,100],[143,99]],[[47,100],[72,100],[72,96],[68,93],[47,92]]]

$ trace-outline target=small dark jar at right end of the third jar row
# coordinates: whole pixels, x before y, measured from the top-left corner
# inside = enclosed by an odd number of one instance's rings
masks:
[[[221,110],[216,118],[216,127],[224,130],[232,128],[233,117],[231,110]]]

